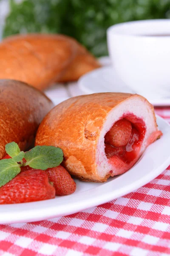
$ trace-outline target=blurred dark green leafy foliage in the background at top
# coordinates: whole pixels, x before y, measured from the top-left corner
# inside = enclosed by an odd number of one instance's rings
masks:
[[[3,36],[62,33],[94,55],[107,55],[106,29],[130,20],[170,18],[170,0],[10,0]]]

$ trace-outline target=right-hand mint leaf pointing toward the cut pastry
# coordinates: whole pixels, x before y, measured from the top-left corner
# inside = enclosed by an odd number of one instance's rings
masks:
[[[46,170],[48,168],[59,166],[63,160],[61,148],[54,146],[36,146],[26,152],[26,165],[34,168]]]

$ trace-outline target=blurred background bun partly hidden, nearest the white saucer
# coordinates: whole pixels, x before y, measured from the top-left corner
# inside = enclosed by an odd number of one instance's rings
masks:
[[[58,80],[59,82],[76,81],[85,73],[101,67],[99,61],[85,47],[74,39],[71,40],[74,42],[75,47],[77,47],[77,54],[63,76]]]

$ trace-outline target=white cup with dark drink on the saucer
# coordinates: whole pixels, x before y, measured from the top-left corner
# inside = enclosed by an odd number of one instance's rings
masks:
[[[170,97],[170,20],[120,23],[107,38],[113,66],[134,92]]]

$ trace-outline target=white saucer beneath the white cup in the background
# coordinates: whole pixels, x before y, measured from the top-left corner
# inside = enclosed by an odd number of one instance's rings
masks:
[[[136,93],[127,87],[127,85],[117,75],[114,67],[111,67],[111,65],[101,67],[85,74],[79,79],[78,85],[79,89],[86,94],[105,92]],[[170,106],[170,97],[161,98],[160,96],[157,99],[153,99],[152,96],[147,96],[147,99],[154,106]]]

